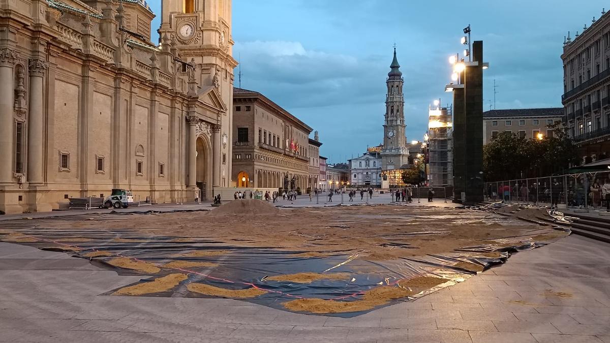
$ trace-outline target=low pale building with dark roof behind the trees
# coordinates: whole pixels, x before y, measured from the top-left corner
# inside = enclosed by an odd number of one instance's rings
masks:
[[[548,126],[563,119],[562,107],[488,110],[483,112],[483,144],[491,142],[502,132],[512,132],[525,139],[553,137],[553,129]]]

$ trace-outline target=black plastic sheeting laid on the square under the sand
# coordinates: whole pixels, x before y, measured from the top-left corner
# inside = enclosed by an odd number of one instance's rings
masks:
[[[496,205],[499,206],[499,205]],[[117,214],[120,214],[117,213]],[[553,212],[553,217],[561,217]],[[86,216],[90,217],[90,215]],[[82,217],[81,217],[82,220]],[[248,289],[256,287],[266,294],[243,299],[271,308],[286,310],[286,301],[298,298],[320,298],[336,301],[360,300],[364,292],[380,286],[397,286],[399,280],[409,280],[417,276],[436,276],[448,280],[429,289],[418,292],[411,297],[387,301],[373,309],[392,305],[401,301],[412,301],[443,287],[467,280],[476,275],[472,268],[460,265],[478,265],[480,270],[492,265],[501,264],[516,251],[529,250],[547,244],[537,242],[529,237],[553,233],[548,228],[533,229],[519,237],[506,237],[495,240],[495,244],[463,247],[444,255],[426,255],[417,258],[400,258],[393,261],[365,261],[358,258],[358,253],[348,255],[344,251],[318,251],[329,256],[300,257],[296,254],[303,251],[277,250],[274,247],[245,248],[226,245],[213,239],[184,239],[182,237],[144,237],[133,236],[134,230],[102,229],[45,229],[45,221],[32,223],[25,221],[3,222],[2,228],[10,228],[24,239],[13,239],[12,242],[37,247],[43,250],[66,251],[74,256],[86,258],[85,255],[95,251],[109,251],[111,257],[92,258],[91,262],[105,268],[116,270],[121,275],[143,275],[139,283],[149,282],[172,273],[185,273],[188,279],[181,281],[171,291],[146,294],[147,297],[211,297],[187,289],[189,283],[204,283],[224,289]],[[36,228],[34,228],[36,224]],[[42,226],[42,228],[41,228]],[[411,235],[437,234],[438,232],[413,233]],[[409,236],[409,234],[401,234]],[[14,236],[13,236],[14,237]],[[2,236],[0,236],[2,239]],[[20,242],[21,240],[21,242]],[[32,240],[25,242],[24,240]],[[88,241],[79,241],[88,240]],[[395,247],[409,248],[409,247]],[[73,251],[77,249],[76,251]],[[181,253],[206,250],[227,250],[221,256],[176,257]],[[491,256],[489,253],[498,255]],[[107,264],[113,258],[126,257],[145,261],[160,267],[160,272],[140,273],[134,270],[114,267]],[[171,261],[212,262],[215,267],[188,267],[175,269],[163,267]],[[463,263],[468,262],[468,263]],[[471,265],[472,266],[472,265]],[[476,269],[476,268],[475,268]],[[270,281],[268,276],[294,273],[349,273],[348,280],[318,280],[309,284],[292,281]],[[138,283],[135,283],[138,284]],[[116,290],[115,290],[116,291]],[[113,294],[114,291],[106,293]],[[360,312],[326,313],[325,316],[354,317],[373,309]]]

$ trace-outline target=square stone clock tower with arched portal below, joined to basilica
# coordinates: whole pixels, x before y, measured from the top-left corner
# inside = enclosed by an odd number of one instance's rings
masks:
[[[187,171],[188,186],[206,189],[207,195],[212,187],[235,186],[231,104],[237,61],[232,57],[231,0],[162,0],[159,37],[162,50],[173,56],[162,63],[179,66],[173,73],[182,85],[176,87],[186,88],[191,99],[184,109],[184,130],[193,132],[188,158],[196,162]]]

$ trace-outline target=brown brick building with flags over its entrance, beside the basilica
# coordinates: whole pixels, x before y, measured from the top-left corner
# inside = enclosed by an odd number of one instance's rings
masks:
[[[312,128],[253,90],[234,88],[233,111],[235,186],[306,192]]]

